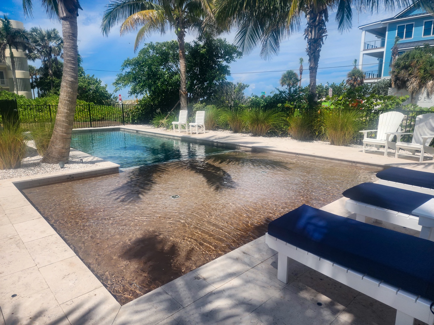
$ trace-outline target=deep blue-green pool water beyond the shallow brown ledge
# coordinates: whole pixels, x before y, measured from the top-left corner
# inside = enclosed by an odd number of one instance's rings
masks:
[[[129,168],[227,151],[128,131],[72,133],[71,147]]]

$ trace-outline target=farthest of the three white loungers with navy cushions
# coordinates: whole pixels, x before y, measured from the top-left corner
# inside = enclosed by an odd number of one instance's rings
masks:
[[[434,195],[434,172],[390,167],[377,173],[378,184]]]

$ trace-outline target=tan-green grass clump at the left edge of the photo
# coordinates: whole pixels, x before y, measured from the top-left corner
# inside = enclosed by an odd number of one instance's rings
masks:
[[[26,155],[23,130],[17,126],[6,126],[0,131],[0,169],[20,168]]]

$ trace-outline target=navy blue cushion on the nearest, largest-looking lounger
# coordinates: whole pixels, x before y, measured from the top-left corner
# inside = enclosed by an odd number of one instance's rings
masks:
[[[302,205],[268,233],[335,263],[434,300],[434,242]]]

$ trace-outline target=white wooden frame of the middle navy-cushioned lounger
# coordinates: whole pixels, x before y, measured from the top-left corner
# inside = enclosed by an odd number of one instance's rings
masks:
[[[365,222],[366,217],[390,222],[402,227],[418,230],[420,238],[434,241],[434,198],[414,209],[412,214],[388,210],[365,202],[348,199],[345,208],[356,214],[356,220]]]

